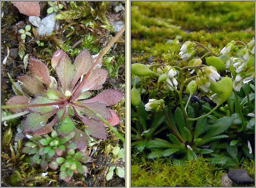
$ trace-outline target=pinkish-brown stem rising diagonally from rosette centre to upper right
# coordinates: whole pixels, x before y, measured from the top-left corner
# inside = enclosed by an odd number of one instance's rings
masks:
[[[88,73],[86,74],[86,76],[84,77],[84,79],[82,80],[82,82],[80,83],[80,85],[76,88],[75,92],[69,97],[68,102],[70,102],[72,100],[72,98],[76,95],[76,93],[79,91],[79,89],[82,87],[82,85],[84,84],[84,82],[88,79],[89,75],[93,72],[95,66],[100,62],[101,58],[107,53],[107,51],[111,48],[111,46],[113,45],[114,42],[116,42],[116,40],[122,35],[122,33],[125,31],[125,26],[116,34],[116,36],[114,36],[114,38],[108,43],[108,45],[104,48],[104,50],[102,51],[102,53],[99,55],[99,57],[97,58],[97,60],[95,61],[95,63],[93,64],[93,66],[91,67],[91,69],[88,71]]]

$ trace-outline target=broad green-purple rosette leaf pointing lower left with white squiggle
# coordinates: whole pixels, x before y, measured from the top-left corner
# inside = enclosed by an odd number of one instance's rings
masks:
[[[42,115],[39,113],[28,114],[24,122],[23,132],[31,132],[43,128],[47,124],[48,119],[57,112],[58,109]]]

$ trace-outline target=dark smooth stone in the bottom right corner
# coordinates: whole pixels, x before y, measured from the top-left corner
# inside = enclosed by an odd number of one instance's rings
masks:
[[[234,169],[228,172],[228,177],[238,184],[251,184],[254,183],[254,179],[251,178],[248,171],[244,169]]]

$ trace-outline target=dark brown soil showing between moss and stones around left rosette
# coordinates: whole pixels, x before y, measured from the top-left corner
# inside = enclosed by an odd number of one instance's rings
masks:
[[[2,2],[1,2],[2,3]],[[91,6],[94,6],[94,2],[90,2]],[[118,2],[110,2],[108,6],[110,8],[107,9],[106,15],[111,21],[113,16],[115,19],[124,19],[125,18],[125,10],[122,10],[121,13],[115,13],[113,11],[113,7],[116,6]],[[41,7],[41,15],[42,19],[46,14],[46,9],[48,8],[47,2],[40,2]],[[123,4],[125,6],[125,4]],[[1,62],[3,62],[4,58],[7,57],[8,51],[9,55],[6,59],[5,64],[1,63],[1,104],[5,104],[6,100],[10,97],[14,96],[15,93],[12,90],[12,84],[8,78],[8,73],[12,79],[17,80],[17,77],[21,74],[27,74],[28,68],[26,71],[24,70],[23,60],[19,56],[19,41],[17,40],[17,31],[21,28],[25,28],[28,22],[28,17],[24,14],[19,13],[18,9],[14,7],[11,3],[5,2],[2,6],[2,12],[4,17],[1,19],[2,28],[1,28]],[[112,15],[112,16],[111,16]],[[4,21],[3,21],[4,20]],[[30,24],[32,26],[32,24]],[[107,33],[109,35],[109,32]],[[114,36],[116,33],[111,33]],[[123,34],[125,35],[125,34]],[[28,42],[31,38],[26,37],[26,52],[25,54],[30,54],[36,56],[36,46],[34,43]],[[100,49],[106,46],[107,42],[100,44]],[[72,46],[73,43],[70,44]],[[54,49],[53,49],[54,50]],[[54,50],[55,51],[55,50]],[[112,48],[110,54],[111,55],[120,55],[125,53],[125,42],[124,40],[119,41],[115,46],[114,50]],[[125,84],[125,65],[122,64],[118,76],[113,79],[108,79],[104,84],[106,86],[112,86],[113,88],[118,88],[119,85]],[[123,91],[124,92],[124,91]],[[22,120],[21,117],[19,120]],[[4,132],[6,131],[6,127],[1,123],[1,138],[3,137]],[[12,131],[14,135],[12,136],[12,142],[14,142],[14,137],[16,134],[16,127],[12,127]],[[69,183],[65,183],[62,180],[56,179],[58,181],[58,186],[106,186],[106,187],[124,187],[125,180],[124,178],[118,177],[114,174],[113,178],[109,181],[106,181],[106,174],[110,166],[118,165],[120,167],[124,167],[125,163],[120,162],[118,164],[110,164],[111,157],[104,156],[101,154],[101,151],[98,150],[97,157],[92,156],[93,160],[90,163],[87,163],[86,166],[89,169],[89,173],[87,173],[84,181],[78,176],[73,176]],[[11,155],[10,150],[6,152],[9,156]],[[7,187],[10,186],[9,176],[14,173],[18,168],[14,165],[8,166],[9,161],[1,158],[1,186]],[[34,184],[36,186],[49,186],[49,185],[39,185]],[[51,186],[51,185],[50,185]]]

